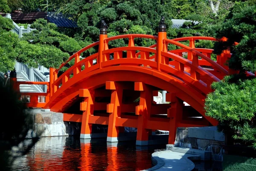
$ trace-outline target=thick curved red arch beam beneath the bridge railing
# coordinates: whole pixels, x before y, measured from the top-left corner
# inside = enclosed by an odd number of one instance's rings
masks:
[[[75,77],[74,80],[70,79],[60,87],[45,108],[50,108],[54,112],[63,112],[64,106],[79,95],[79,89],[95,89],[104,86],[106,81],[132,81],[143,82],[159,90],[175,93],[178,98],[186,101],[204,116],[204,95],[178,78],[156,70],[152,71],[146,67],[114,66],[86,74],[82,71]],[[208,120],[213,125],[216,124],[215,120],[210,118]]]

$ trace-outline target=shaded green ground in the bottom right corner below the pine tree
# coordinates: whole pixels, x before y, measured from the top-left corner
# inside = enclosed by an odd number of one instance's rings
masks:
[[[242,156],[224,155],[223,171],[256,171],[256,159]]]

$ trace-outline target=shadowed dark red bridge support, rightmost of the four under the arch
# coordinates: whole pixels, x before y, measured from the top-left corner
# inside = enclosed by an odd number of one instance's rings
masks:
[[[177,98],[175,93],[166,93],[166,101],[171,102],[171,108],[167,111],[167,117],[170,118],[168,144],[174,144],[177,125],[183,116],[183,101]]]

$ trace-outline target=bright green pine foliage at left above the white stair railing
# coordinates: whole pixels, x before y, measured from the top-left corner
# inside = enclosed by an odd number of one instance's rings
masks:
[[[29,34],[18,35],[12,33],[12,20],[0,16],[0,71],[14,69],[16,61],[23,62],[29,67],[58,68],[70,55],[88,45],[86,42],[76,41],[59,33],[57,26],[47,23],[44,19],[38,19],[32,23],[35,28]],[[92,52],[93,49],[90,49]],[[88,52],[84,53],[86,55]]]

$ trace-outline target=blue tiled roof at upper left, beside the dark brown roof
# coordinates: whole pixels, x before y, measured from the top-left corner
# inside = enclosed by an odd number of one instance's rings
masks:
[[[58,27],[65,27],[65,28],[77,27],[75,21],[68,19],[67,16],[64,16],[61,13],[56,14],[55,12],[47,12],[46,19],[50,23],[55,23]]]

